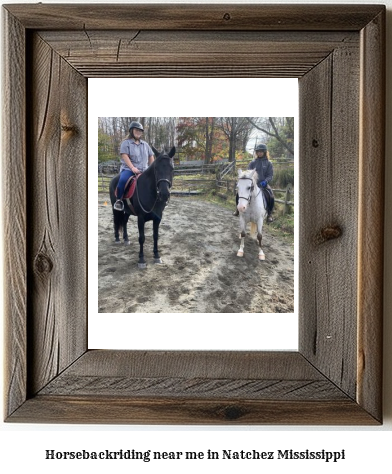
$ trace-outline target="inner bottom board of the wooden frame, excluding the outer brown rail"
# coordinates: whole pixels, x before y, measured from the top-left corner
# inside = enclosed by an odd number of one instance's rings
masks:
[[[295,352],[90,351],[40,395],[344,400]]]

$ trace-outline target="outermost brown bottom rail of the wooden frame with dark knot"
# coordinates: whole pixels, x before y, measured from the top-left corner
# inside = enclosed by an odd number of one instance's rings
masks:
[[[353,400],[279,401],[40,396],[9,420],[34,423],[375,425]]]

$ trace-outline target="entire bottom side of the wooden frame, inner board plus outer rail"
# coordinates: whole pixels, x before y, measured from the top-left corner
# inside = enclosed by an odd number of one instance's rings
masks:
[[[9,420],[377,424],[299,353],[89,351]]]

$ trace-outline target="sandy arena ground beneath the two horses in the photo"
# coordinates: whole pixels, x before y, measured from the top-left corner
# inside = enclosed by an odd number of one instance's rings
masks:
[[[105,201],[108,203],[104,205]],[[239,248],[238,218],[216,204],[172,197],[160,225],[162,265],[153,263],[152,222],[146,224],[147,269],[137,266],[136,218],[131,245],[115,244],[110,201],[100,195],[98,299],[100,313],[292,313],[294,247],[263,229],[265,261],[255,240]]]

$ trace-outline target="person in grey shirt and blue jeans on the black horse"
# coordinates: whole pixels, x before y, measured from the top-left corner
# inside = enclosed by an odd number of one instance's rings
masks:
[[[120,179],[117,185],[117,201],[113,205],[116,211],[124,210],[122,197],[129,178],[133,175],[143,173],[155,159],[154,152],[150,145],[144,140],[141,140],[143,132],[142,124],[133,121],[129,126],[128,137],[121,143]]]

